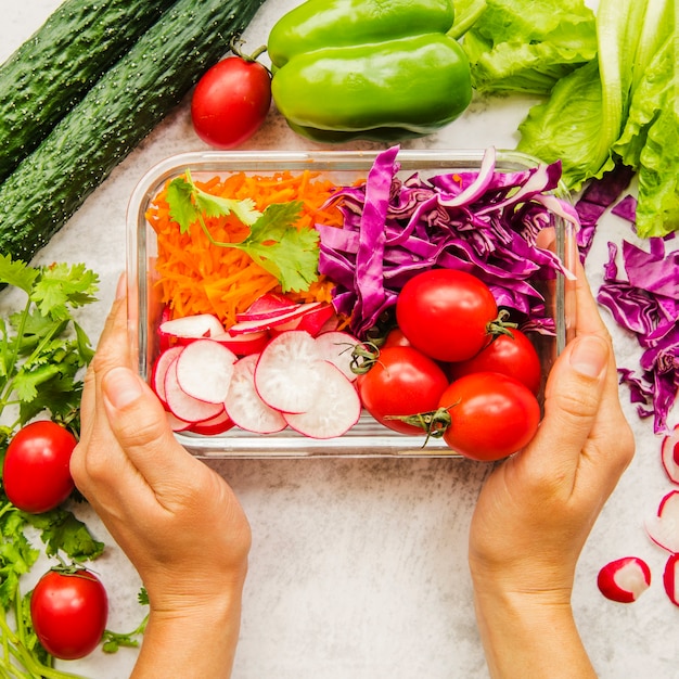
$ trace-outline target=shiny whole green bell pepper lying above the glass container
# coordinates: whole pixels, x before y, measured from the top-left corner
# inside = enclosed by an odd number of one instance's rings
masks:
[[[454,120],[472,97],[446,33],[450,0],[307,0],[271,29],[273,100],[316,141],[398,140]]]

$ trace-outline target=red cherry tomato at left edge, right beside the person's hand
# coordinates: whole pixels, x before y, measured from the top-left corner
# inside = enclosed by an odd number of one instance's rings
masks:
[[[4,456],[2,478],[10,502],[31,514],[61,504],[74,489],[68,465],[76,444],[68,430],[50,420],[21,428]]]

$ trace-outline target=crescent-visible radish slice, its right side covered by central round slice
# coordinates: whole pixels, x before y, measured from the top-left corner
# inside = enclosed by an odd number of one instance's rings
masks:
[[[225,407],[236,426],[256,434],[273,434],[287,426],[278,411],[267,406],[255,388],[255,367],[258,356],[244,356],[233,367],[231,386]]]

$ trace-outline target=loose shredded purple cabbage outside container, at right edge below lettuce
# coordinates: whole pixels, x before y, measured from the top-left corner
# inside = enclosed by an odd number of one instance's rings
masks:
[[[608,261],[598,300],[616,322],[635,333],[643,348],[641,374],[619,369],[641,418],[653,417],[653,431],[668,431],[667,418],[679,392],[679,252],[665,255],[665,240],[649,239],[649,252],[623,241],[627,278],[618,278],[618,248],[608,243]]]

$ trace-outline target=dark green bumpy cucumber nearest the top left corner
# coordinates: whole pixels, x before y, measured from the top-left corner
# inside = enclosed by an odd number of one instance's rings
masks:
[[[0,181],[175,0],[66,0],[0,66]]]

